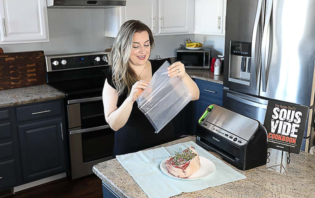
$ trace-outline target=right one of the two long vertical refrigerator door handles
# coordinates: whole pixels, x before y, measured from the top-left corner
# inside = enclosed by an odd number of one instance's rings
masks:
[[[268,58],[269,58],[269,50],[268,50],[268,55],[267,55],[267,60],[266,60],[266,49],[267,49],[267,37],[268,35],[268,26],[270,24],[270,18],[271,18],[271,12],[272,12],[272,3],[273,0],[267,0],[266,1],[266,19],[265,19],[265,24],[264,24],[264,32],[262,34],[262,45],[261,45],[261,80],[262,80],[262,91],[266,92],[266,87],[267,87],[267,71],[266,68],[266,63],[268,64]],[[270,42],[269,42],[270,45]],[[269,46],[268,46],[269,49]]]

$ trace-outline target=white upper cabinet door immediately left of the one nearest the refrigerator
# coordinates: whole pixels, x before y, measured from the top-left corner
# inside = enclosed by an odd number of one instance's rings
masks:
[[[194,1],[158,0],[159,34],[193,32]]]

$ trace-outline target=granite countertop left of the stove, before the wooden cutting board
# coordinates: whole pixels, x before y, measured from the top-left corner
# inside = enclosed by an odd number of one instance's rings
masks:
[[[66,95],[43,84],[0,91],[0,108],[63,98]]]

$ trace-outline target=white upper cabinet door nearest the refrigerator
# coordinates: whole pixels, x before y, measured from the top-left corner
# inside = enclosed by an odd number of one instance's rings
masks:
[[[196,34],[225,35],[226,0],[195,0]]]

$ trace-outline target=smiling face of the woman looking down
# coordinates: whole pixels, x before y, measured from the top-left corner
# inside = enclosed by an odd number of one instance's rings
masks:
[[[141,66],[146,64],[150,56],[150,40],[147,31],[135,32],[132,39],[132,47],[129,61],[132,65]]]

